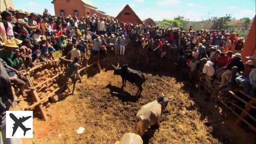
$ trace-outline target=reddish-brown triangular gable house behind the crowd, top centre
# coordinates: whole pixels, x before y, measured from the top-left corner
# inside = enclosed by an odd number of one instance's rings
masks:
[[[137,14],[132,10],[132,8],[126,4],[124,9],[116,16],[116,19],[121,22],[130,22],[132,24],[142,24],[142,21],[137,16]]]

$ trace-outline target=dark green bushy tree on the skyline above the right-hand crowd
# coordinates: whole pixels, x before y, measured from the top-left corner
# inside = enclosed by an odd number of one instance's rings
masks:
[[[228,27],[230,27],[227,22],[230,22],[231,16],[230,14],[226,14],[226,16],[223,16],[220,18],[213,17],[212,20],[213,20],[213,24],[212,24],[213,29],[216,29],[218,27],[220,27],[220,29],[227,29]]]

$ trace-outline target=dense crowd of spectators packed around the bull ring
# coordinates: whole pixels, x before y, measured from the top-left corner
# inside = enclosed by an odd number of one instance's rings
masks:
[[[20,73],[22,66],[28,70],[40,62],[53,61],[55,51],[62,52],[64,57],[60,60],[69,64],[66,74],[75,84],[75,74],[82,82],[77,71],[87,64],[90,55],[98,58],[104,58],[107,53],[123,56],[127,47],[136,49],[138,57],[148,58],[155,54],[166,60],[166,54],[178,55],[175,64],[188,68],[189,80],[203,76],[207,86],[213,87],[212,79],[219,78],[222,93],[242,86],[247,94],[255,96],[255,58],[248,56],[247,62],[242,62],[245,39],[239,38],[234,31],[193,30],[192,26],[188,30],[163,29],[100,18],[96,14],[79,19],[70,15],[51,16],[47,9],[42,15],[9,10],[1,12],[0,16],[0,92],[1,97],[9,97],[5,100],[13,100],[12,92],[6,88],[10,82],[23,96],[26,96],[24,89],[33,89]],[[2,68],[7,75],[2,74]],[[197,71],[201,73],[196,75]],[[7,92],[3,92],[4,88]]]

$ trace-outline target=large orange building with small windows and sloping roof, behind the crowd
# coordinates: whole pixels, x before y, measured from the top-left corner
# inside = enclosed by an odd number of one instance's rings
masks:
[[[78,18],[92,16],[106,17],[105,12],[97,10],[89,0],[53,0],[56,16],[77,16]]]

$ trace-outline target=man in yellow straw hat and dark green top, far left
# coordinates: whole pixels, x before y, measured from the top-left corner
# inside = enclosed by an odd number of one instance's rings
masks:
[[[19,52],[14,52],[18,46],[14,40],[6,40],[5,48],[1,51],[0,57],[8,64],[8,66],[19,70],[22,66],[22,61],[19,58]]]

